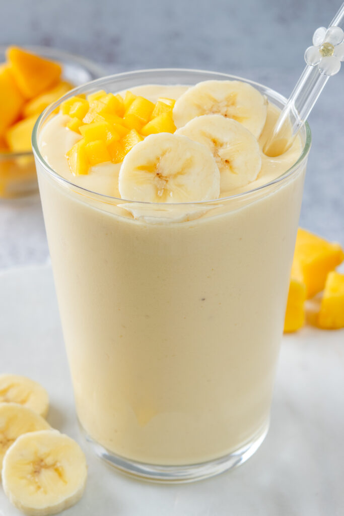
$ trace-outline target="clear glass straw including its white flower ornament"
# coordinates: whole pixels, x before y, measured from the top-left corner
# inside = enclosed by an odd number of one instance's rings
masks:
[[[339,72],[340,61],[344,61],[344,34],[340,27],[343,22],[344,3],[329,28],[320,27],[315,31],[313,46],[305,52],[307,66],[264,146],[268,156],[279,156],[289,149],[327,80]]]

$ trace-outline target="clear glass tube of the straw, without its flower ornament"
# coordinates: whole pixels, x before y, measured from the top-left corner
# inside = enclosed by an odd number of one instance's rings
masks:
[[[344,3],[341,5],[339,11],[330,23],[330,26],[326,31],[326,35],[329,33],[329,30],[331,30],[331,27],[340,27],[340,25],[343,24],[343,21]],[[321,27],[316,31],[316,33],[318,33],[318,31],[324,32],[325,30],[326,29]],[[314,44],[316,44],[316,33],[313,37]],[[325,41],[326,36],[324,42]],[[324,52],[322,54],[323,56],[332,55],[331,52],[333,53],[333,45],[330,46],[330,54],[327,54],[326,50],[328,49],[327,47],[325,47],[326,44],[327,43],[321,45],[320,53]],[[339,46],[341,47],[341,53],[343,45],[344,43],[339,44]],[[324,47],[323,51],[322,47]],[[339,59],[343,60],[344,56],[341,55]],[[267,154],[268,156],[279,156],[280,154],[288,150],[294,138],[298,134],[300,127],[307,120],[310,111],[312,111],[312,108],[318,100],[318,97],[323,87],[327,83],[327,80],[329,80],[330,75],[334,75],[335,73],[336,71],[329,72],[329,74],[324,74],[324,72],[321,73],[319,71],[319,67],[314,65],[307,65],[305,67],[285,107],[283,108],[279,116],[279,119],[277,120],[273,128],[273,133],[271,137],[267,140],[264,146],[265,154]]]

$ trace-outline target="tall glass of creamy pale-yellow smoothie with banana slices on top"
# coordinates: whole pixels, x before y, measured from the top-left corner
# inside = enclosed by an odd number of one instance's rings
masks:
[[[68,153],[81,135],[56,108],[99,90],[176,100],[177,131],[75,175]],[[201,479],[247,460],[266,436],[310,148],[305,124],[281,156],[261,150],[285,102],[231,75],[148,70],[79,87],[36,124],[77,416],[122,471]],[[181,159],[191,175],[172,184]]]

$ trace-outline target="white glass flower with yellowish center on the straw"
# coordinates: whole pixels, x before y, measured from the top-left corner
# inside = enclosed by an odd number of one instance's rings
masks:
[[[340,70],[340,61],[344,61],[343,41],[344,32],[340,27],[319,27],[313,35],[313,46],[305,52],[307,65],[318,65],[323,75],[335,75]]]

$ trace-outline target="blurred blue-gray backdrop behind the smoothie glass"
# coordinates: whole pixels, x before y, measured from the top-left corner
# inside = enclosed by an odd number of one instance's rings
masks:
[[[82,54],[109,72],[189,67],[243,75],[288,96],[338,0],[0,0],[0,44]],[[309,117],[301,224],[344,245],[344,65]],[[0,201],[0,268],[47,259],[38,196]]]

